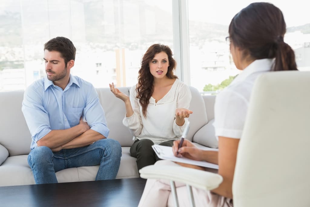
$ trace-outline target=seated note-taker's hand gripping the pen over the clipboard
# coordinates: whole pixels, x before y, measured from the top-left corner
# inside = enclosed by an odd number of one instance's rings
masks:
[[[182,146],[179,148],[181,140],[173,142],[172,151],[176,157],[187,157],[191,160],[204,160],[202,158],[202,150],[197,148],[192,142],[184,139]],[[177,154],[177,152],[179,152]]]

